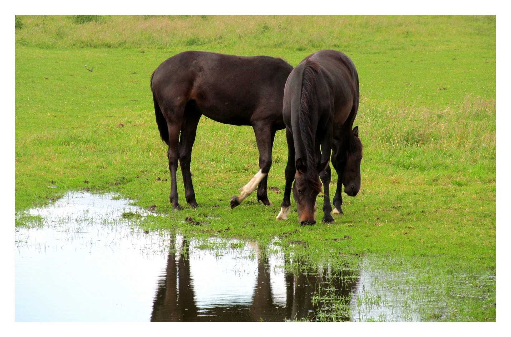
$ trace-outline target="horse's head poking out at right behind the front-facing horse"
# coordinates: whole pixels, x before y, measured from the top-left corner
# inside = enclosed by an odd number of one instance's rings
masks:
[[[342,184],[345,194],[355,197],[360,190],[360,161],[362,161],[362,142],[358,137],[358,126],[353,129],[350,136],[346,155]]]

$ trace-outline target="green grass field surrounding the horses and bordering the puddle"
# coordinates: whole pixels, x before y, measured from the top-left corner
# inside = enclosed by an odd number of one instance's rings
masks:
[[[429,284],[495,275],[495,16],[19,16],[16,22],[17,212],[68,190],[114,191],[141,207],[157,206],[158,215],[142,221],[149,229],[259,243],[281,236],[286,249],[311,261],[383,256],[427,270]],[[192,155],[200,208],[172,212],[152,71],[186,50],[269,55],[294,66],[321,49],[350,56],[360,78],[362,187],[355,198],[344,195],[345,215],[310,228],[299,226],[295,211],[277,222],[282,194],[271,191],[272,207],[253,194],[231,210],[229,198],[258,171],[255,137],[249,127],[205,117]],[[277,132],[268,179],[281,190],[285,142],[284,131]],[[178,191],[188,206],[179,172]],[[187,216],[214,219],[191,226],[183,223]],[[333,241],[344,235],[351,239]],[[484,291],[476,281],[469,285],[465,300],[451,301],[450,315],[425,317],[495,321],[495,279]],[[461,296],[454,288],[446,299]]]

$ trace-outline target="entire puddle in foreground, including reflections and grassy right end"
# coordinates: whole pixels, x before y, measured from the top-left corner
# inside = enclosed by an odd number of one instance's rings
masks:
[[[18,214],[36,220],[16,227],[15,320],[470,320],[456,316],[467,299],[495,305],[495,276],[396,268],[403,262],[374,256],[355,271],[312,268],[273,245],[145,233],[126,212],[147,214],[88,192]]]

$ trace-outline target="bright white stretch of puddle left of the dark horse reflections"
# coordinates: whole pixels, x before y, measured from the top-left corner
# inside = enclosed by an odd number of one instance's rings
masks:
[[[73,192],[15,233],[16,321],[148,321],[165,270],[165,236],[120,221],[143,210],[112,195]],[[108,221],[108,222],[105,222]]]

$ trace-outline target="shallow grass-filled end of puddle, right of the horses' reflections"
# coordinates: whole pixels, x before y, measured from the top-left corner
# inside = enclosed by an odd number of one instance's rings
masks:
[[[376,256],[361,260],[352,321],[471,321],[470,311],[495,306],[495,275],[445,273],[429,262],[422,268],[406,264]]]

